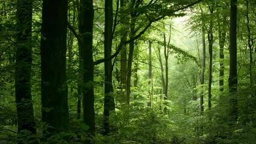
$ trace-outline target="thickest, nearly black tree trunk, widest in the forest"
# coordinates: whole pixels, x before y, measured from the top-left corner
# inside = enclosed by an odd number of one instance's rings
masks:
[[[47,129],[50,133],[46,137],[50,137],[69,130],[66,82],[67,0],[43,1],[41,35],[42,121],[52,126]]]

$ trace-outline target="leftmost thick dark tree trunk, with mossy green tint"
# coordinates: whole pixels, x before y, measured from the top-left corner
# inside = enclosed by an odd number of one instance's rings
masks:
[[[18,142],[22,130],[36,134],[34,110],[31,97],[31,63],[32,63],[32,0],[17,1],[17,49],[15,64],[15,97],[18,119]],[[26,140],[36,143],[35,136]],[[25,140],[25,138],[23,139]],[[22,143],[22,142],[20,142]]]

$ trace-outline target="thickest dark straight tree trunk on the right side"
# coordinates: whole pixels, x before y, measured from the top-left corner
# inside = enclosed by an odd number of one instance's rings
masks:
[[[236,122],[238,118],[237,107],[237,0],[231,0],[230,10],[230,76],[228,87],[230,91],[230,121]]]

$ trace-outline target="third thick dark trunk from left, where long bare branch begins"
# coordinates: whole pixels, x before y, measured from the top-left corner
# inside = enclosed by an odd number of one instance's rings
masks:
[[[83,71],[83,110],[84,123],[89,126],[85,131],[89,139],[86,143],[93,143],[90,139],[95,134],[95,114],[94,114],[94,64],[93,64],[93,0],[80,1],[79,13],[79,34],[81,35],[82,50],[82,71]]]

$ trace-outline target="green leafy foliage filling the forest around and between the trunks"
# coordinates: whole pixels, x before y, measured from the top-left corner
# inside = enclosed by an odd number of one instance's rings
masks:
[[[41,122],[41,68],[40,68],[40,29],[41,3],[34,1],[32,27],[32,79],[31,91],[34,107],[37,135],[29,131],[22,131],[17,135],[17,114],[14,97],[14,59],[16,50],[16,9],[15,1],[0,1],[0,143],[17,143],[17,140],[28,142],[31,137],[38,143],[256,143],[256,92],[255,92],[255,52],[248,46],[248,27],[252,49],[255,49],[255,2],[239,1],[237,23],[237,69],[238,69],[238,107],[239,119],[236,124],[229,121],[230,97],[228,92],[229,73],[229,43],[228,20],[230,14],[229,1],[203,1],[187,9],[179,10],[195,1],[141,1],[138,7],[132,7],[131,2],[125,7],[117,9],[114,4],[115,31],[113,31],[112,53],[118,49],[123,35],[130,34],[130,13],[136,11],[136,34],[147,31],[135,40],[136,52],[132,59],[132,84],[130,105],[121,109],[120,56],[112,59],[111,95],[115,99],[115,110],[110,113],[109,124],[111,133],[103,135],[104,110],[104,66],[94,65],[94,82],[79,84],[78,40],[72,30],[68,30],[67,45],[67,85],[69,87],[69,131],[62,131],[45,138],[47,124]],[[75,32],[79,31],[78,1],[69,1],[69,23]],[[118,1],[116,1],[118,2]],[[209,7],[214,8],[212,17]],[[246,14],[248,13],[249,22]],[[185,15],[186,14],[186,15]],[[161,19],[161,20],[160,20]],[[209,22],[213,19],[213,82],[212,109],[208,109],[208,79],[209,69],[205,71],[205,83],[200,84],[201,73],[201,37],[202,29],[209,31]],[[121,22],[124,20],[124,22]],[[104,58],[104,2],[94,1],[94,33],[93,58],[94,61]],[[157,22],[155,22],[157,21]],[[186,24],[186,25],[183,25]],[[171,26],[171,31],[163,25]],[[219,30],[225,31],[227,38],[224,43],[224,59],[219,58]],[[165,72],[163,56],[163,34],[171,36],[168,44],[169,52],[169,85],[168,100],[163,100],[162,72]],[[73,41],[71,40],[73,37]],[[207,35],[206,35],[207,37]],[[129,39],[129,38],[127,38]],[[148,41],[152,42],[152,77],[148,78],[149,53]],[[207,42],[208,43],[208,42]],[[129,52],[129,44],[124,44]],[[160,53],[158,51],[160,50]],[[252,55],[250,55],[252,52]],[[208,50],[206,50],[206,65],[209,65]],[[159,58],[162,56],[162,59]],[[135,59],[136,58],[136,59]],[[253,59],[252,63],[250,58]],[[160,60],[159,60],[160,59]],[[163,62],[163,71],[160,61]],[[219,64],[224,62],[224,77],[219,77]],[[136,62],[136,66],[135,66]],[[251,67],[251,69],[250,69]],[[252,81],[250,79],[252,73]],[[165,78],[165,76],[163,76]],[[224,80],[224,91],[220,91],[219,80]],[[138,80],[138,85],[133,82]],[[79,88],[94,88],[94,107],[96,116],[95,136],[85,133],[89,129],[82,118],[83,111],[78,113]],[[200,113],[200,95],[204,96],[204,113]],[[81,101],[83,101],[81,99]],[[149,105],[151,103],[151,105]],[[165,103],[167,103],[165,105]],[[165,115],[163,107],[167,107]],[[19,139],[16,139],[16,137]],[[70,142],[65,139],[70,137]]]

